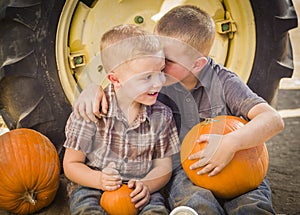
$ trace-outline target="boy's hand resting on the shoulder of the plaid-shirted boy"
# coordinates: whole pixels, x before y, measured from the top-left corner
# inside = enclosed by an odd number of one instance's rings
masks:
[[[84,118],[85,121],[97,122],[97,118],[101,118],[100,104],[103,114],[107,114],[108,104],[101,86],[91,83],[79,95],[74,104],[74,112],[79,119]]]

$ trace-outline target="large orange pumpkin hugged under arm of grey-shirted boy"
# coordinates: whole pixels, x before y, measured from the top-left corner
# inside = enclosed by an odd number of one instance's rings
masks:
[[[235,153],[231,162],[217,175],[198,175],[190,166],[197,160],[189,155],[203,150],[207,143],[196,143],[202,134],[227,134],[241,128],[246,121],[235,116],[217,116],[194,126],[186,135],[181,146],[181,163],[189,179],[196,185],[211,190],[215,196],[229,199],[255,189],[266,176],[268,151],[265,143]]]

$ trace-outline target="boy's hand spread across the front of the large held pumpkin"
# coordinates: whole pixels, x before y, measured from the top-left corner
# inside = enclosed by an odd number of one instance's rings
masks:
[[[191,169],[203,167],[198,174],[214,176],[220,173],[224,167],[232,160],[235,150],[233,144],[228,142],[226,135],[204,134],[197,140],[198,143],[207,142],[204,150],[190,155],[189,159],[199,159],[190,166]]]

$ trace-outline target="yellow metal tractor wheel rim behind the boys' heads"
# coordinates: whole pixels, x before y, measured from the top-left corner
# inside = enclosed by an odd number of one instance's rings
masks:
[[[101,0],[91,7],[80,1],[66,1],[57,28],[56,62],[69,102],[73,104],[81,89],[90,82],[107,85],[99,57],[99,40],[105,31],[118,24],[131,23],[152,32],[155,20],[165,12],[164,6],[168,5],[170,9],[181,4],[196,5],[213,17],[217,33],[210,56],[246,82],[256,46],[255,22],[249,1]],[[224,24],[225,29],[222,29]],[[228,31],[226,26],[236,27],[236,31]]]

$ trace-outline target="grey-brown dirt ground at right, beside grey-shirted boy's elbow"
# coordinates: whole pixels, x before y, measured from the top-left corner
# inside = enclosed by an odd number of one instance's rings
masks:
[[[278,98],[280,110],[300,107],[300,90],[280,90]],[[300,113],[284,122],[284,131],[267,143],[268,179],[276,213],[296,215],[300,214]]]

